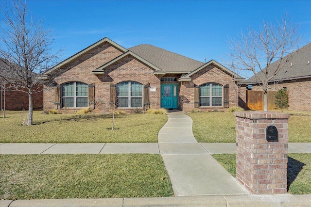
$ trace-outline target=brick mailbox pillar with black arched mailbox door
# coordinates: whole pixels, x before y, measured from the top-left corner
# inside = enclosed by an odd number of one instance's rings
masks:
[[[287,193],[289,114],[250,111],[235,115],[236,179],[253,194]]]

